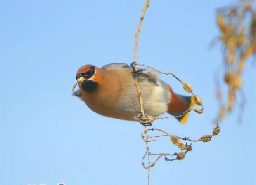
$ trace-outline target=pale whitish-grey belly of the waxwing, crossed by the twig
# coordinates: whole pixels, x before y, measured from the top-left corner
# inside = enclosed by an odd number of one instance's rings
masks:
[[[148,80],[143,80],[143,83],[140,82],[139,86],[144,112],[148,118],[158,117],[167,112],[171,95],[168,91],[168,86],[164,82],[159,80],[155,84]],[[135,83],[128,85],[126,93],[123,93],[123,96],[115,104],[115,109],[129,118],[137,116],[140,112],[140,102]]]

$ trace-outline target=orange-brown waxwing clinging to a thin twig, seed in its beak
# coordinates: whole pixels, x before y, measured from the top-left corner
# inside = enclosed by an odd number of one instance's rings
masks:
[[[139,70],[138,81],[145,116],[158,117],[168,112],[173,116],[182,115],[185,110],[194,106],[192,96],[176,94],[173,89],[158,77],[155,70]],[[81,66],[76,79],[84,77],[78,83],[77,96],[97,114],[122,120],[135,121],[140,112],[140,102],[135,86],[133,68],[126,63],[111,63],[98,68],[94,65]],[[188,114],[177,117],[185,124]]]

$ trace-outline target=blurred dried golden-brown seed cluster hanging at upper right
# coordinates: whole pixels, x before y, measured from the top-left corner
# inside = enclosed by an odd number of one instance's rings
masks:
[[[242,122],[242,115],[246,98],[242,90],[242,74],[249,61],[249,57],[255,57],[255,1],[238,1],[226,7],[217,9],[217,25],[220,35],[216,40],[223,44],[223,67],[225,74],[222,77],[228,87],[227,98],[223,98],[224,92],[220,89],[218,72],[216,70],[216,98],[219,102],[219,113],[215,122],[219,123],[225,116],[234,110],[239,93],[241,101],[239,106],[238,123]],[[223,99],[226,99],[224,102]]]

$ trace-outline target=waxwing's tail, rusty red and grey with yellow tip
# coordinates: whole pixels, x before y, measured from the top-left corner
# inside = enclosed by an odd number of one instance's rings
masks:
[[[168,113],[173,116],[182,115],[188,109],[194,107],[194,98],[193,96],[183,96],[180,94],[171,93],[171,103],[168,105]],[[183,115],[182,117],[176,117],[181,124],[187,122],[189,113]]]

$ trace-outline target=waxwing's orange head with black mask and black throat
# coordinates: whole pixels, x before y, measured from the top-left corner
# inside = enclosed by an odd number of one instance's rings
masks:
[[[97,89],[100,82],[98,76],[99,68],[87,64],[81,66],[76,72],[76,80],[80,77],[83,77],[85,80],[81,83],[78,83],[79,87],[87,92],[93,92]]]

